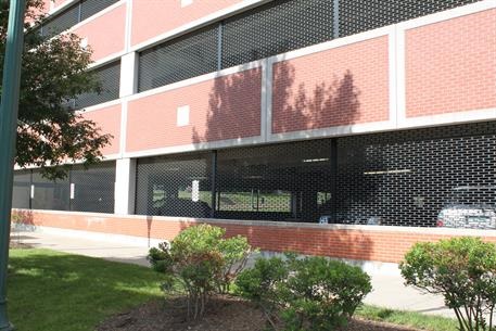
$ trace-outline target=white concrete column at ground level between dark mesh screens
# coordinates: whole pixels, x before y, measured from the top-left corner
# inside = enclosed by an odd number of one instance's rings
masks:
[[[135,213],[136,158],[119,158],[115,169],[115,205],[117,215]]]

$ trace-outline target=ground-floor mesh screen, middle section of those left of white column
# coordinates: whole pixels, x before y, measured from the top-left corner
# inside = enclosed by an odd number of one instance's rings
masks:
[[[69,183],[68,179],[49,180],[39,170],[33,170],[34,196],[33,209],[68,211]]]

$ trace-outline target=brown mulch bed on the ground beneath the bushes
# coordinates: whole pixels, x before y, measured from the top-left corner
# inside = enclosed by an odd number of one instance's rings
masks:
[[[151,302],[103,321],[97,331],[264,331],[262,311],[239,297],[213,298],[205,317],[188,321],[183,298]],[[347,331],[417,331],[387,323],[355,319]]]

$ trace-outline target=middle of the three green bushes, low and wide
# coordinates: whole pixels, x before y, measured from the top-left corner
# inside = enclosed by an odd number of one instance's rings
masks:
[[[238,292],[256,303],[275,330],[336,330],[371,291],[358,267],[323,257],[257,259],[240,273]]]

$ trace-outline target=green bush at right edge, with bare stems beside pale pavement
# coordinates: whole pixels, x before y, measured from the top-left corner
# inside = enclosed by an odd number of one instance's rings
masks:
[[[461,331],[494,330],[496,247],[479,238],[417,243],[399,266],[406,284],[444,295]]]

